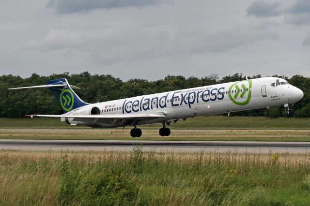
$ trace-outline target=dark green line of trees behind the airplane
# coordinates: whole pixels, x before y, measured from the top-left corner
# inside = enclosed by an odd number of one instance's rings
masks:
[[[286,79],[290,84],[304,92],[304,98],[294,104],[293,117],[310,117],[310,77],[294,75],[291,78],[274,75]],[[260,74],[248,76],[248,79],[259,78]],[[14,87],[45,85],[48,80],[66,78],[75,89],[78,96],[87,103],[105,102],[110,100],[129,98],[171,90],[202,87],[219,83],[244,80],[242,74],[233,74],[219,78],[217,74],[210,74],[202,78],[168,75],[164,79],[148,81],[145,79],[130,79],[122,81],[112,75],[90,74],[51,74],[41,76],[32,74],[29,78],[15,75],[0,76],[0,118],[23,118],[26,114],[62,114],[62,108],[48,89],[8,90]],[[285,116],[283,106],[269,109],[257,109],[231,113],[233,116]]]

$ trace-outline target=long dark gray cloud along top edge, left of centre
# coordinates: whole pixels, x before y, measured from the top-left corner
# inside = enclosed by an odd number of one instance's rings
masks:
[[[158,5],[162,0],[49,0],[47,7],[58,14],[89,12],[100,8],[144,7]]]

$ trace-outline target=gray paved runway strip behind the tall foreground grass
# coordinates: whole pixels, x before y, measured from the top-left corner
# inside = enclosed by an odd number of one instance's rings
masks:
[[[73,150],[73,151],[131,151],[134,145],[145,150],[168,152],[248,152],[305,153],[310,142],[245,142],[245,141],[140,141],[140,140],[11,140],[1,139],[1,149],[14,150]]]

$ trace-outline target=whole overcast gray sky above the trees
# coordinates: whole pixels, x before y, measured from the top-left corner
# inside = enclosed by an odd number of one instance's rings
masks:
[[[310,76],[310,0],[1,0],[0,75]]]

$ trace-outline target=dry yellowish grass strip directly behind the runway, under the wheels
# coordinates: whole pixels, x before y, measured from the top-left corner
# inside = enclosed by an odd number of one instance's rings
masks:
[[[139,138],[130,130],[0,129],[0,139],[85,139],[85,140],[191,140],[191,141],[310,141],[310,130],[199,130],[171,129],[169,137],[158,130],[143,129]]]

